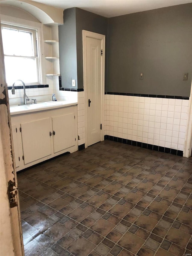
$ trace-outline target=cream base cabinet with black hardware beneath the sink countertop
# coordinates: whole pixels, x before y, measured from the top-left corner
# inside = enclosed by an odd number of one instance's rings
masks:
[[[16,170],[22,170],[77,145],[77,107],[61,107],[11,116]],[[17,133],[15,129],[17,128]],[[18,159],[20,158],[20,161]]]

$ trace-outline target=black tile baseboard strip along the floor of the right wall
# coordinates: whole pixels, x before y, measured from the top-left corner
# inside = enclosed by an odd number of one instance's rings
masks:
[[[127,139],[122,139],[122,138],[109,136],[109,135],[105,135],[104,140],[112,140],[112,141],[132,145],[132,146],[137,146],[137,147],[144,148],[144,149],[151,149],[151,150],[164,152],[164,153],[168,153],[168,154],[172,154],[172,155],[183,156],[183,151],[181,151],[181,150],[170,149],[170,148],[147,144],[147,143],[143,143],[143,142],[139,142],[139,141],[135,141],[135,140],[127,140]]]

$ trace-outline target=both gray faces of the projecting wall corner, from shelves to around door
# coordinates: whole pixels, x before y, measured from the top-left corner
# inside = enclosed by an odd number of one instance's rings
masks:
[[[76,7],[64,10],[64,24],[59,26],[62,87],[83,88],[82,30],[106,35],[107,45],[107,26],[108,19],[100,15]],[[107,78],[107,49],[105,77]],[[76,87],[72,87],[72,79],[76,80]]]

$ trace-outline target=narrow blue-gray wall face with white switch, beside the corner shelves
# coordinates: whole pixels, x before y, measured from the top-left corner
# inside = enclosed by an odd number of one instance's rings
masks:
[[[76,8],[64,11],[64,24],[59,25],[59,62],[62,87],[77,88]],[[72,87],[72,79],[76,86]]]

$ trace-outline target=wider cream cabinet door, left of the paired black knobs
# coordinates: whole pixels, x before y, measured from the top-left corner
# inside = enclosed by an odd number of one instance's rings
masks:
[[[24,164],[51,155],[50,122],[46,118],[21,124]]]

